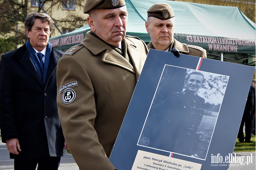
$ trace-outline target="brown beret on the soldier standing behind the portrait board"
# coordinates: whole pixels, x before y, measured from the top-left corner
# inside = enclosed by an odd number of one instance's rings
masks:
[[[174,17],[174,11],[168,3],[155,3],[147,12],[148,16],[153,16],[160,20],[167,20]]]

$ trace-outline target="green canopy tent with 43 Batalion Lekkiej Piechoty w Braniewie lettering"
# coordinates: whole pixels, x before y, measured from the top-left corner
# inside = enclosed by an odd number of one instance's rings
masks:
[[[174,38],[186,44],[201,46],[207,58],[255,65],[255,23],[237,7],[225,7],[166,0],[126,0],[127,35],[150,41],[145,29],[147,10],[154,3],[170,4],[175,13]],[[88,25],[70,33],[50,38],[54,48],[67,50],[79,44],[90,30]]]

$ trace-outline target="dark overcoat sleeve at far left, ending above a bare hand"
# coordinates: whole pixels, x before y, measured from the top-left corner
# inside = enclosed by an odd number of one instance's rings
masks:
[[[2,141],[17,138],[14,107],[13,107],[13,77],[11,67],[5,54],[0,62],[0,128]]]

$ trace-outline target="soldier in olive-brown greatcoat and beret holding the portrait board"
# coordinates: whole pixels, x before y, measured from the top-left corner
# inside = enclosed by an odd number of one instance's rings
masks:
[[[114,170],[108,157],[148,53],[127,36],[124,0],[87,0],[91,31],[57,65],[57,104],[70,151],[81,170]]]

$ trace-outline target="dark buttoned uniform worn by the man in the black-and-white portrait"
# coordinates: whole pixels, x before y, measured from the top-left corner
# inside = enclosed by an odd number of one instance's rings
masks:
[[[172,107],[168,116],[168,127],[173,141],[170,148],[173,152],[197,157],[197,146],[200,133],[197,128],[201,123],[204,112],[205,99],[199,95],[190,95],[187,90],[174,92],[167,99]]]

